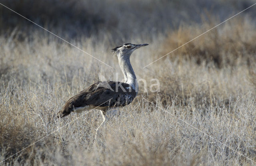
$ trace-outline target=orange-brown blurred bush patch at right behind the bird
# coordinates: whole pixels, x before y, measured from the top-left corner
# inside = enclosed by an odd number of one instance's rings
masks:
[[[210,16],[209,16],[210,17]],[[220,22],[210,17],[204,24],[181,24],[178,30],[170,32],[164,40],[159,55],[165,55],[180,45],[194,39],[200,34],[210,30]],[[201,63],[214,62],[216,67],[229,67],[237,65],[250,66],[255,62],[256,34],[253,20],[250,18],[236,17],[218,28],[207,32],[192,42],[184,45],[171,53],[168,58],[176,59],[177,55],[182,59],[193,59],[199,65]],[[160,56],[160,57],[161,57]]]

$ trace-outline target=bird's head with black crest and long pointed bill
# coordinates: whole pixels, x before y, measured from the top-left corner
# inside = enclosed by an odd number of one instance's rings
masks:
[[[131,44],[131,43],[125,43],[122,45],[119,45],[115,48],[112,49],[112,51],[114,53],[116,53],[116,55],[118,56],[118,58],[121,58],[123,56],[128,56],[130,57],[130,55],[132,54],[132,52],[140,47],[146,46],[148,44]]]

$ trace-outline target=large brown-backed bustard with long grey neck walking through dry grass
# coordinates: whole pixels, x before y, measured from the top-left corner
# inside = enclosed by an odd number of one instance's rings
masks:
[[[130,63],[130,55],[135,49],[146,45],[148,44],[124,43],[113,48],[113,55],[117,56],[120,69],[124,75],[124,82],[100,81],[90,85],[71,97],[58,113],[58,117],[66,117],[72,112],[81,113],[98,109],[103,117],[101,126],[105,122],[107,111],[129,105],[138,94],[138,82]],[[96,129],[96,134],[98,128]]]

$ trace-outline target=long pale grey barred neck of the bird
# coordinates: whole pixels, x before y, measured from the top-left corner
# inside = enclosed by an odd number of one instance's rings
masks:
[[[132,89],[134,89],[138,93],[138,82],[132,69],[130,58],[121,57],[120,59],[118,59],[118,63],[124,75],[124,82],[130,84]]]

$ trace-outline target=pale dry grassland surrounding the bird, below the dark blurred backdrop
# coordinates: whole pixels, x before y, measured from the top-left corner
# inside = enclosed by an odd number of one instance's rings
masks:
[[[121,76],[110,52],[119,43],[108,34],[97,43],[94,37],[72,41],[111,69],[49,34],[30,32],[21,40],[22,31],[14,29],[0,36],[0,161],[49,134],[0,165],[254,165],[256,27],[250,17],[234,18],[142,69],[218,22],[132,39],[150,44],[136,50],[131,63],[148,87],[159,79],[160,92],[146,93],[140,83],[139,96],[100,129],[94,148],[99,111],[64,119],[56,113],[98,75]]]

